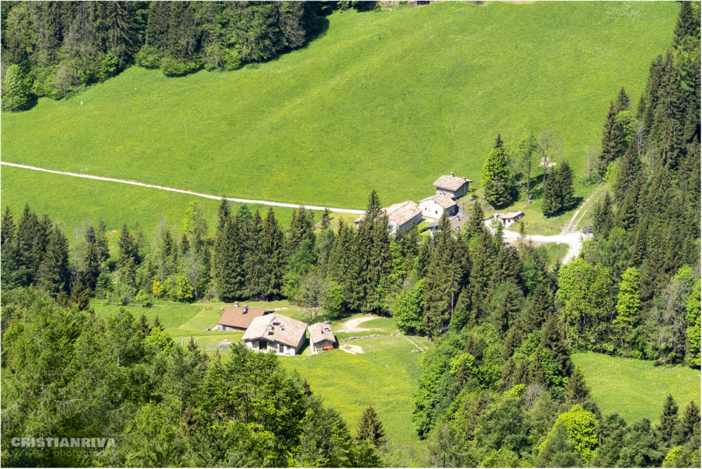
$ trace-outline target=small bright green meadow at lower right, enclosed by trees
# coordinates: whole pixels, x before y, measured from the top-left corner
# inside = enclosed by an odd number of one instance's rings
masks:
[[[700,405],[699,370],[654,366],[653,362],[594,352],[576,353],[572,359],[583,371],[592,398],[604,414],[617,411],[628,422],[644,417],[657,422],[668,393],[681,414],[691,400]]]

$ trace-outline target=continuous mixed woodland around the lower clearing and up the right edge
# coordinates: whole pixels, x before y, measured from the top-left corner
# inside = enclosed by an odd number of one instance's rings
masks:
[[[216,5],[201,10],[225,8]],[[55,4],[31,8],[48,6]],[[158,8],[182,6],[152,5],[147,38]],[[178,47],[201,53],[197,44]],[[225,201],[210,227],[192,202],[183,232],[161,223],[146,239],[139,226],[123,225],[116,252],[101,221],[81,227],[69,245],[48,216],[6,209],[2,463],[402,464],[372,409],[350,430],[277,357],[242,347],[208,357],[145,317],[120,310],[104,319],[90,308],[91,297],[145,306],[289,298],[310,319],[373,312],[431,338],[413,409],[428,442],[425,465],[699,467],[698,404],[669,397],[655,425],[603,415],[569,357],[593,350],[700,366],[699,58],[698,4],[685,2],[638,105],[622,90],[603,110],[591,176],[609,192],[592,214],[595,236],[579,258],[551,269],[529,242],[505,246],[499,228],[488,230],[479,199],[460,232],[444,217],[435,237],[416,227],[392,234],[375,192],[357,230],[328,212],[315,222],[304,207],[284,230],[272,209],[232,213]],[[530,134],[512,153],[554,146],[552,133]],[[493,195],[516,197],[506,153],[498,137],[484,171],[491,203]],[[567,209],[569,166],[543,171],[546,206]],[[76,456],[9,446],[16,435],[95,434],[114,435],[117,447]]]

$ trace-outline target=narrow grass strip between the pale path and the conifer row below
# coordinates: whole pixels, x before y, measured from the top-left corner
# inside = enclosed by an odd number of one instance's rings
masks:
[[[9,206],[15,215],[15,223],[18,223],[26,202],[29,202],[30,208],[40,217],[43,213],[47,213],[60,225],[69,239],[74,239],[74,229],[84,222],[97,226],[98,220],[102,218],[109,232],[111,251],[117,249],[117,237],[122,223],[126,223],[131,229],[135,222],[139,222],[147,236],[147,242],[151,241],[161,217],[164,218],[167,226],[182,232],[185,228],[188,204],[193,200],[202,207],[211,233],[217,225],[217,207],[220,204],[217,200],[11,166],[1,166],[1,168],[2,210]],[[233,213],[236,213],[241,205],[234,202],[229,204]],[[258,210],[261,216],[265,216],[268,211],[268,206],[256,204],[248,206],[251,213]],[[273,211],[283,229],[287,230],[295,209],[275,207]],[[314,213],[319,220],[322,212]],[[356,217],[357,215],[350,213],[332,213],[334,219],[332,223],[336,227],[337,218],[343,218],[347,223],[351,223],[351,220]]]

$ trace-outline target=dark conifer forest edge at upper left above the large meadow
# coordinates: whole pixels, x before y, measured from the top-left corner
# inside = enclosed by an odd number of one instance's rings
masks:
[[[2,107],[61,99],[130,65],[167,77],[236,70],[298,48],[358,1],[4,1]]]

